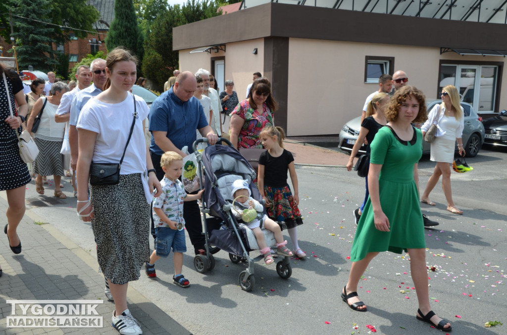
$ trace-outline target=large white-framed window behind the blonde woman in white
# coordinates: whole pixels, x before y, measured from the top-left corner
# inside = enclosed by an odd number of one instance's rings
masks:
[[[485,63],[442,63],[437,96],[445,86],[454,85],[461,101],[471,104],[478,113],[493,113],[497,109],[500,66]]]

